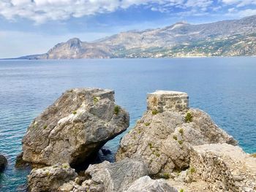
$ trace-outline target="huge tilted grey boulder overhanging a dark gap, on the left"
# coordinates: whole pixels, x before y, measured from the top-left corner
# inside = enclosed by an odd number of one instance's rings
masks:
[[[23,137],[23,161],[76,166],[128,126],[129,114],[115,104],[114,91],[72,89],[32,121]]]

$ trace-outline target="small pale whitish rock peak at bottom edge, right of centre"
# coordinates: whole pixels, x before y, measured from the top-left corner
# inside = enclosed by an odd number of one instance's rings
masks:
[[[151,180],[144,176],[136,180],[125,192],[178,192],[176,188],[171,187],[165,180]]]

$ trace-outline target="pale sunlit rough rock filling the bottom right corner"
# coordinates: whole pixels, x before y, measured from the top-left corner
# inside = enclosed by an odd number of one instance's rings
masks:
[[[211,191],[256,190],[256,158],[244,153],[238,146],[195,146],[189,170],[190,180],[211,183]]]

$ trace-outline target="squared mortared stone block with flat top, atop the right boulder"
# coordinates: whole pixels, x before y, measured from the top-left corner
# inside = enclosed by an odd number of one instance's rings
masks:
[[[148,93],[148,110],[154,112],[177,111],[189,109],[189,96],[178,91],[155,91]]]

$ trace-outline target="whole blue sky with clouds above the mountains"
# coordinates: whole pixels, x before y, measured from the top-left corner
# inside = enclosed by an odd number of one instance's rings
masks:
[[[256,0],[0,0],[0,58],[46,53],[78,37],[256,15]]]

